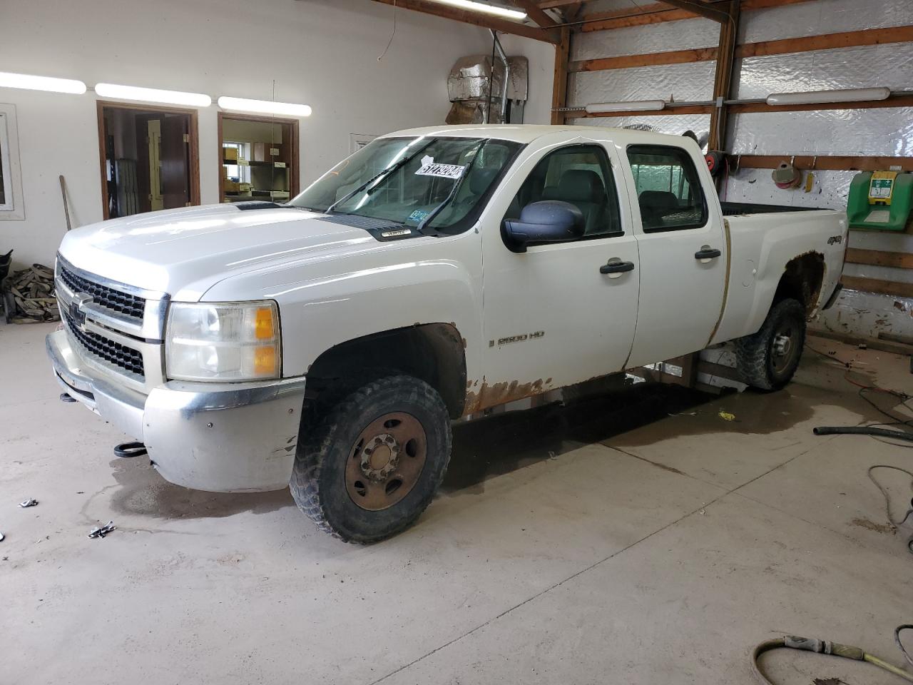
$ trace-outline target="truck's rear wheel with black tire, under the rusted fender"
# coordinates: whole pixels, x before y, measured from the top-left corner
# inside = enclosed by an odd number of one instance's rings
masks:
[[[759,332],[735,343],[742,383],[758,390],[780,390],[790,382],[802,358],[805,308],[799,300],[780,300],[767,312]]]

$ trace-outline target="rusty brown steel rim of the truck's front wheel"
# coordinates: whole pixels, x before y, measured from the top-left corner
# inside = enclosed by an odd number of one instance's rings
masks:
[[[394,506],[415,488],[428,454],[422,423],[405,412],[391,412],[374,419],[349,451],[345,488],[352,501],[365,511]]]

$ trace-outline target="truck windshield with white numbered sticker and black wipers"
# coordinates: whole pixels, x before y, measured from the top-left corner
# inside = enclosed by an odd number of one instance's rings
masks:
[[[485,138],[381,138],[289,205],[454,233],[475,220],[482,198],[521,147]]]

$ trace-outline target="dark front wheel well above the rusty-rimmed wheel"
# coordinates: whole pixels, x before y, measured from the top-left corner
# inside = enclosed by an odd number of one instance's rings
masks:
[[[350,390],[383,375],[408,374],[441,395],[450,416],[466,402],[466,342],[450,323],[426,323],[331,347],[308,368],[309,396]]]

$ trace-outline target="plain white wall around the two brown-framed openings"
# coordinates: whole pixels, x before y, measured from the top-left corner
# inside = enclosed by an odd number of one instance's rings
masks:
[[[369,0],[2,0],[5,71],[219,95],[306,102],[301,179],[307,184],[349,153],[349,134],[443,123],[456,58],[487,53],[487,30]],[[528,54],[527,121],[548,121],[553,48],[506,37]],[[535,67],[533,65],[536,65]],[[547,65],[547,66],[546,66]],[[540,89],[542,91],[540,91]],[[548,90],[544,92],[544,90]],[[19,264],[51,264],[66,230],[58,174],[74,225],[101,219],[96,98],[0,88],[16,105],[26,219],[0,221],[0,251]],[[218,201],[214,106],[199,114],[203,203]]]

